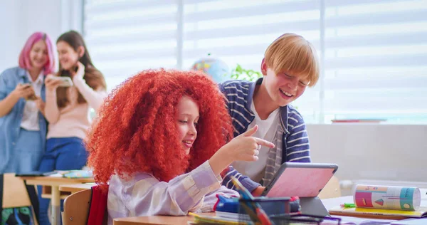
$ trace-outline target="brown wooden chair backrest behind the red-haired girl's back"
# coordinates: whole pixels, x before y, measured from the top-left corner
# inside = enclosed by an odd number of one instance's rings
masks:
[[[63,224],[86,224],[89,216],[91,197],[92,190],[88,189],[75,192],[65,198]]]

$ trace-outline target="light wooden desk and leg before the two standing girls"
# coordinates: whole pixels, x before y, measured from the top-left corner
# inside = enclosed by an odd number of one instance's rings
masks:
[[[60,224],[60,191],[61,184],[81,184],[95,182],[93,178],[64,178],[64,177],[21,177],[29,185],[41,185],[51,189],[52,225]],[[38,193],[41,194],[41,193]],[[43,196],[46,196],[43,194]]]

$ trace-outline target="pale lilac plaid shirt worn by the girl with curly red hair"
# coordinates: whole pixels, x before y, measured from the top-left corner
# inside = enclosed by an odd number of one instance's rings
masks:
[[[169,182],[160,182],[152,174],[139,173],[122,179],[113,175],[108,188],[108,224],[120,217],[172,215],[189,211],[212,211],[216,194],[238,197],[238,192],[221,186],[209,161]]]

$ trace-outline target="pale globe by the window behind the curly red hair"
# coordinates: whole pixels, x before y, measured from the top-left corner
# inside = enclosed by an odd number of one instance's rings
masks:
[[[218,58],[201,58],[191,66],[191,69],[210,75],[216,83],[230,80],[230,69],[227,63]]]

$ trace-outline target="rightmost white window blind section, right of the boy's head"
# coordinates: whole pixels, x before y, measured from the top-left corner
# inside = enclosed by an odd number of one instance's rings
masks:
[[[324,115],[427,122],[427,1],[325,1]]]

